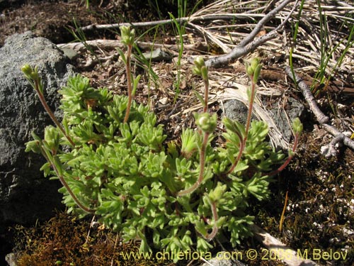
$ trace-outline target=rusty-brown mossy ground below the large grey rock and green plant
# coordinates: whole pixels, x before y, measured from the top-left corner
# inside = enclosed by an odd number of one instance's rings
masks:
[[[47,265],[169,265],[167,260],[125,257],[137,255],[138,243],[122,243],[119,235],[88,219],[79,220],[66,212],[32,228],[16,226],[18,266]]]

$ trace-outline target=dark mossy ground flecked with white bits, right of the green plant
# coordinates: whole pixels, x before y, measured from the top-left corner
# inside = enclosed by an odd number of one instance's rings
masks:
[[[353,152],[339,157],[321,156],[319,140],[305,133],[306,150],[272,186],[269,201],[256,204],[256,223],[294,250],[343,251],[346,260],[316,260],[321,265],[353,265],[354,202]],[[308,139],[306,139],[308,138]],[[302,153],[303,152],[303,153]],[[282,231],[279,231],[285,194],[288,193]],[[330,263],[330,264],[329,264]]]

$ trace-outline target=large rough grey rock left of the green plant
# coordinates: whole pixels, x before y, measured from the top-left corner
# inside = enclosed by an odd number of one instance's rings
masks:
[[[25,143],[32,140],[30,133],[42,135],[45,126],[52,124],[23,77],[25,63],[38,66],[45,98],[53,111],[59,110],[57,89],[74,74],[63,52],[33,33],[12,35],[0,48],[0,226],[33,223],[62,208],[59,182],[46,179],[39,170],[45,160],[25,153]]]

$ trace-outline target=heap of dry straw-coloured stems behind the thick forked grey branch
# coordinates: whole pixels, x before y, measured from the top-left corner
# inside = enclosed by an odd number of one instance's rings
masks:
[[[218,46],[223,52],[228,52],[234,48],[236,44],[256,26],[256,23],[265,16],[265,11],[275,5],[276,1],[215,1],[215,3],[200,9],[190,21],[201,21],[202,18],[208,18],[209,23],[204,23],[203,26],[198,26],[198,33],[203,33],[213,45]],[[327,21],[331,21],[326,26],[326,31],[329,36],[326,38],[326,50],[332,51],[333,55],[329,58],[326,66],[326,74],[330,75],[333,72],[341,72],[345,77],[353,70],[354,60],[350,60],[354,56],[354,45],[350,45],[348,40],[348,32],[350,25],[354,23],[354,6],[349,1],[336,1],[336,3],[328,3],[327,1],[319,1],[322,15]],[[316,0],[305,1],[302,9],[301,23],[299,24],[299,36],[295,45],[293,57],[298,62],[302,62],[304,70],[312,70],[316,72],[319,69],[321,61],[321,28],[319,25],[319,4]],[[290,13],[291,6],[286,6],[275,16],[275,19],[264,27],[265,32],[272,31],[278,24],[285,19]],[[292,21],[296,22],[298,10],[292,14]],[[214,17],[212,20],[210,18]],[[284,45],[289,46],[289,40],[292,38],[292,29],[285,30],[283,35],[278,35],[273,43],[267,42],[258,50],[272,50],[280,52],[283,55],[288,55],[288,50],[284,49]],[[195,24],[193,22],[193,24]],[[334,28],[336,26],[336,28]],[[192,30],[197,26],[191,27]],[[285,36],[285,39],[284,39]],[[221,43],[221,44],[220,44]],[[350,46],[347,51],[346,47]],[[338,65],[338,58],[343,53],[346,56]]]

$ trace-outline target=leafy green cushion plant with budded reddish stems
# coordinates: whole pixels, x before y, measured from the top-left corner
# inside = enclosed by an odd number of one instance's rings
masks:
[[[195,67],[207,93],[202,59]],[[250,67],[252,100],[261,67],[258,61]],[[35,89],[42,86],[36,71],[23,67]],[[124,241],[141,240],[141,252],[206,252],[225,235],[239,244],[251,235],[250,197],[265,199],[271,175],[288,163],[266,140],[268,126],[251,122],[251,111],[246,126],[224,118],[224,144],[213,146],[217,116],[207,112],[207,97],[203,112],[195,114],[198,130],[185,128],[181,142],[166,143],[156,115],[137,104],[134,93],[113,95],[76,75],[59,94],[62,125],[47,126],[43,140],[33,133],[26,150],[45,156],[42,170],[62,182],[59,191],[69,211],[95,214]],[[298,137],[298,120],[295,128]]]

